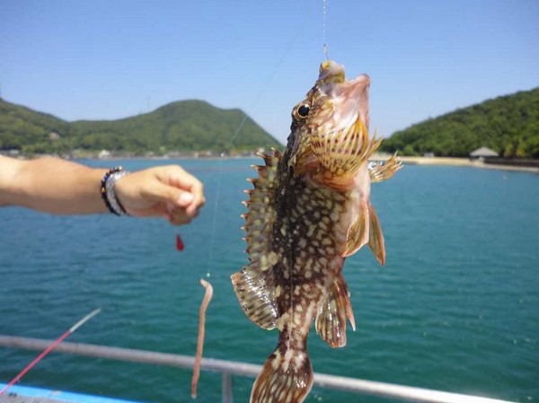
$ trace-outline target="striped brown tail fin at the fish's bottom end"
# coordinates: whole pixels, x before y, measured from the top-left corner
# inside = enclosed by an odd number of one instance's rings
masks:
[[[266,359],[254,382],[250,403],[301,403],[311,390],[314,373],[306,349],[288,348],[282,352],[279,346]]]

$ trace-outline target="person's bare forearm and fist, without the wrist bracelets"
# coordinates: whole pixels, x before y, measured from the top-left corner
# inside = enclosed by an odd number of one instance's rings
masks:
[[[99,189],[106,171],[59,158],[0,155],[0,206],[56,215],[105,213]],[[116,195],[129,215],[164,216],[173,224],[189,223],[204,205],[202,184],[177,165],[130,173],[116,182]]]

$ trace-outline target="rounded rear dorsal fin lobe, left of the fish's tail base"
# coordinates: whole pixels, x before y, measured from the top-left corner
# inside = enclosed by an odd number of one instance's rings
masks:
[[[231,279],[247,318],[262,329],[274,329],[278,320],[278,307],[273,271],[261,271],[247,266],[234,273]]]

